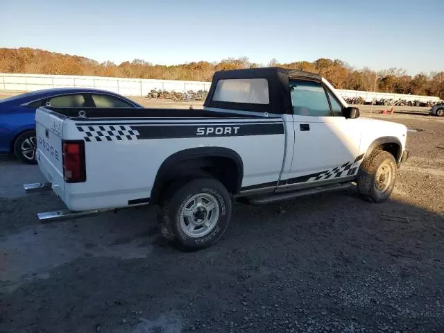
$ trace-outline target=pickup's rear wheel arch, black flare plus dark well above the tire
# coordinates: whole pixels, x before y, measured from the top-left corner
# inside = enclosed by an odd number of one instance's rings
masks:
[[[235,171],[232,172],[232,167]],[[223,169],[225,168],[225,169]],[[214,174],[216,169],[219,172]],[[173,180],[180,177],[195,176],[196,171],[201,174],[214,176],[227,187],[232,194],[237,194],[241,189],[244,177],[244,163],[238,153],[230,148],[223,147],[198,147],[178,151],[167,157],[160,165],[155,176],[153,189],[151,190],[150,203],[158,203],[162,191]]]

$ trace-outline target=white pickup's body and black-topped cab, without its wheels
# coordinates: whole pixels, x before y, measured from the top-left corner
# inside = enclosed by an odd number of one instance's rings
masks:
[[[40,170],[71,212],[98,212],[158,203],[160,187],[187,172],[194,162],[198,165],[193,169],[219,177],[232,196],[248,197],[356,180],[359,166],[377,147],[389,151],[398,165],[407,157],[404,125],[366,119],[359,113],[347,117],[355,110],[315,74],[305,78],[311,74],[279,69],[276,76],[273,70],[260,69],[237,83],[230,75],[239,73],[232,72],[214,79],[205,110],[119,109],[98,114],[39,108],[35,123]],[[259,78],[249,78],[256,73]],[[280,90],[273,92],[272,84],[282,73],[288,73],[284,83],[290,82],[291,87],[279,97]],[[262,89],[262,76],[268,74],[270,86]],[[226,89],[218,85],[219,80]],[[250,90],[244,94],[246,83]],[[325,89],[327,114],[295,106],[305,98],[300,94],[309,96],[303,102],[308,104],[313,96],[325,98],[313,94],[316,89]],[[291,95],[290,101],[286,94]],[[248,103],[239,103],[243,96]],[[340,109],[336,114],[333,103]],[[244,105],[246,110],[241,110]],[[275,112],[280,107],[284,111]],[[74,165],[80,158],[80,173],[84,173],[78,182],[69,180],[71,167],[65,165],[70,158],[65,144],[73,142],[79,145],[74,151],[80,147]]]

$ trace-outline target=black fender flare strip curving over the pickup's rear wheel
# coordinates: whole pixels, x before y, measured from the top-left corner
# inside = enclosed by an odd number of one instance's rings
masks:
[[[154,185],[151,193],[150,202],[155,203],[159,197],[160,191],[162,189],[162,182],[169,170],[178,166],[178,164],[197,160],[207,157],[224,157],[232,160],[237,166],[237,184],[236,192],[241,189],[242,178],[244,177],[244,163],[242,162],[241,156],[230,148],[223,147],[198,147],[198,148],[188,148],[183,151],[178,151],[169,155],[167,159],[160,164],[157,174],[155,176]]]

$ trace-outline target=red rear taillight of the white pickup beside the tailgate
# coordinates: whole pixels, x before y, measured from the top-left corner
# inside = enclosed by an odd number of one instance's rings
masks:
[[[63,178],[65,182],[85,182],[85,142],[63,142]]]

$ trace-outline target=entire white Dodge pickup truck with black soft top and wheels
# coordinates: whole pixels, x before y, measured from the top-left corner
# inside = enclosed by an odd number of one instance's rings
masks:
[[[225,232],[232,200],[262,204],[350,187],[386,200],[407,159],[407,128],[359,118],[318,74],[219,71],[203,110],[39,108],[37,161],[74,219],[160,205],[162,232],[204,248]]]

